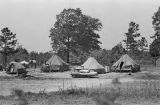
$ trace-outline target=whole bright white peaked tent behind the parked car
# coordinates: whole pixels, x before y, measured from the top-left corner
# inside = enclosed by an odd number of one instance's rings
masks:
[[[84,69],[91,69],[98,73],[104,73],[104,67],[97,62],[94,57],[89,57],[86,62],[82,65]]]

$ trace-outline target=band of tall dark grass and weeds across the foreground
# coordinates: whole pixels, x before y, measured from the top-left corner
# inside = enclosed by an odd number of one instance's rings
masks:
[[[12,95],[17,97],[16,100],[19,101],[19,105],[28,105],[28,100],[31,99],[42,100],[55,95],[62,97],[63,100],[69,96],[73,98],[82,96],[93,99],[97,105],[120,105],[117,103],[120,98],[126,100],[131,98],[160,98],[160,81],[145,80],[134,83],[121,83],[118,78],[115,78],[110,86],[99,84],[98,88],[93,86],[91,88],[79,88],[74,85],[67,89],[63,82],[63,86],[57,92],[47,93],[45,90],[40,90],[39,93],[31,93],[13,89]]]

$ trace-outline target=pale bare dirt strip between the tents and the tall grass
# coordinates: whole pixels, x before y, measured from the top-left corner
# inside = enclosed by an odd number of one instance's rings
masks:
[[[59,89],[68,89],[70,87],[77,88],[91,88],[99,86],[109,86],[113,78],[121,78],[120,82],[134,81],[132,76],[127,73],[107,73],[99,74],[98,78],[72,78],[70,71],[67,72],[52,72],[40,73],[39,69],[30,70],[30,76],[38,79],[8,79],[15,77],[5,72],[0,72],[0,77],[8,77],[0,80],[0,95],[9,95],[12,89],[23,89],[25,92],[39,92],[44,90],[46,92],[58,91]],[[126,79],[127,78],[127,79]]]

